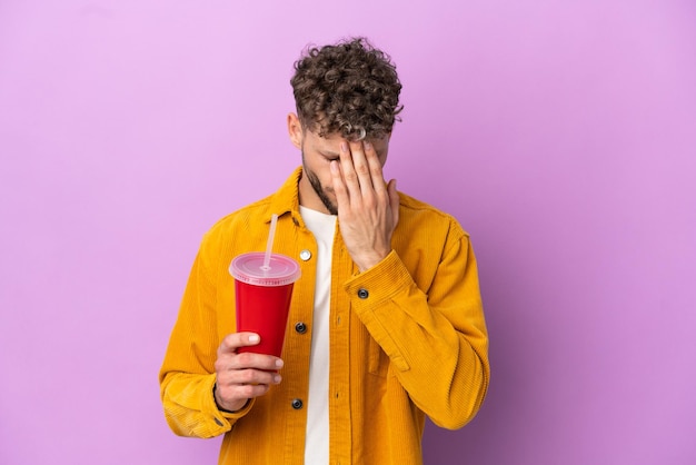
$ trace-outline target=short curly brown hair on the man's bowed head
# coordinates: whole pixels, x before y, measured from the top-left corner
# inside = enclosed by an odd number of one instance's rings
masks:
[[[300,122],[321,137],[381,138],[404,109],[396,66],[365,38],[308,48],[290,83]]]

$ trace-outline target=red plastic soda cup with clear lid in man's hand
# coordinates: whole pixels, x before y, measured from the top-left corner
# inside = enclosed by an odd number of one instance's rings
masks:
[[[237,352],[280,357],[292,287],[300,277],[300,266],[281,254],[271,254],[265,266],[265,255],[241,254],[229,267],[235,278],[237,332],[251,332],[261,337],[258,345],[240,347]]]

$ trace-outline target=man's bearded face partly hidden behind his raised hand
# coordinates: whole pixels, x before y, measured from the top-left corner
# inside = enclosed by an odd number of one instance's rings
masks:
[[[290,139],[302,152],[302,178],[299,182],[300,205],[325,214],[337,215],[338,207],[331,180],[329,165],[339,159],[340,144],[347,141],[344,137],[332,133],[320,137],[301,127],[292,128],[291,115],[289,120]],[[299,126],[299,121],[297,121]],[[375,147],[381,166],[387,161],[389,137],[368,139]]]

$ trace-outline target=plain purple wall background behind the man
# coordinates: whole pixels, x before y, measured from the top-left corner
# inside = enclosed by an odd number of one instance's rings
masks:
[[[696,463],[692,0],[0,0],[1,464],[216,463],[165,423],[169,332],[348,34],[405,85],[387,176],[479,259],[489,396],[426,463]]]

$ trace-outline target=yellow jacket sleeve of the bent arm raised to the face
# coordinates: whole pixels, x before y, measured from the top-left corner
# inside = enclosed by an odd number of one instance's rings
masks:
[[[456,429],[476,415],[490,378],[476,258],[457,224],[430,278],[419,288],[392,250],[345,289],[412,402],[436,425]]]

